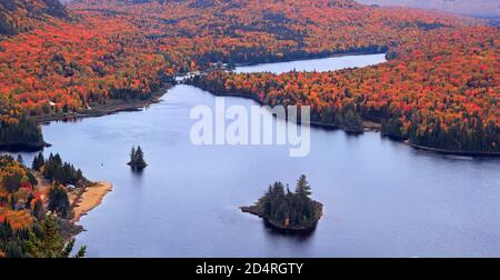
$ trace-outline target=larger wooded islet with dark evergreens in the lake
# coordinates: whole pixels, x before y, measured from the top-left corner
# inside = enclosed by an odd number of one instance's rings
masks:
[[[269,186],[254,206],[241,211],[262,218],[272,228],[286,232],[312,231],[322,216],[323,204],[310,198],[311,187],[306,176],[297,181],[294,192],[282,182]]]

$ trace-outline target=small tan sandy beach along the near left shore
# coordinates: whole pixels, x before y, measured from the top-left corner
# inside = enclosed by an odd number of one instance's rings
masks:
[[[87,187],[73,208],[74,217],[71,221],[78,222],[80,217],[98,207],[112,188],[110,182],[97,182],[94,186]]]

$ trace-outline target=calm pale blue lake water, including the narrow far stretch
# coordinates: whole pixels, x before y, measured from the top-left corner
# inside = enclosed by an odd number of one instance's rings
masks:
[[[382,61],[380,54],[357,56],[238,70]],[[286,146],[193,146],[189,112],[199,104],[214,107],[214,97],[177,86],[141,112],[43,127],[53,144],[46,154],[59,152],[89,179],[114,186],[80,221],[87,231],[77,242],[88,246],[89,257],[500,256],[499,160],[417,151],[376,132],[321,129],[312,129],[306,158],[289,158]],[[226,104],[254,102],[226,98]],[[134,144],[150,164],[142,173],[126,164]],[[33,154],[23,156],[28,161]],[[239,211],[271,182],[294,186],[301,173],[324,203],[313,233],[282,236]]]

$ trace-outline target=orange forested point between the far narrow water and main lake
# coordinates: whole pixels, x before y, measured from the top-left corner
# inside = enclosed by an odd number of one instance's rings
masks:
[[[391,48],[390,62],[336,72],[210,72],[194,84],[262,103],[307,104],[312,120],[362,131],[362,120],[411,143],[498,152],[499,29],[436,30]],[[440,44],[436,44],[440,41]]]

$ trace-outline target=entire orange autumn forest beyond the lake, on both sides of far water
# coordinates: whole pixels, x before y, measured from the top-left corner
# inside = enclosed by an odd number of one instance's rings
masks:
[[[82,112],[117,99],[149,100],[176,73],[209,70],[217,62],[232,66],[388,51],[390,62],[379,67],[301,73],[316,87],[312,92],[261,88],[276,79],[266,74],[221,79],[237,80],[252,93],[259,89],[270,103],[321,100],[318,108],[330,108],[330,114],[344,113],[342,100],[351,104],[349,116],[356,119],[349,126],[359,129],[359,114],[386,121],[386,129],[404,137],[428,130],[429,126],[419,127],[427,122],[439,120],[440,131],[454,121],[471,120],[474,124],[460,124],[468,127],[447,133],[451,146],[448,140],[412,138],[419,144],[451,150],[498,150],[497,143],[482,143],[470,134],[471,126],[491,134],[499,123],[499,31],[473,27],[478,24],[473,20],[351,0],[79,0],[68,3],[67,10],[49,0],[9,3],[18,8],[2,4],[8,18],[26,23],[10,23],[14,31],[4,32],[9,36],[0,41],[3,127],[21,118]],[[327,80],[314,81],[317,76]],[[221,83],[214,77],[209,76],[204,87]],[[231,89],[217,86],[221,88]],[[429,112],[421,111],[423,107]],[[316,118],[331,119],[319,113]],[[441,134],[433,129],[419,133]],[[481,144],[466,144],[466,137],[473,139],[467,142]]]

